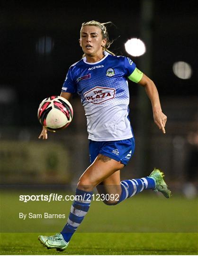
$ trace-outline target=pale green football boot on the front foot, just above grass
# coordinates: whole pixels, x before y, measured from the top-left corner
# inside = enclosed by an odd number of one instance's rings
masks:
[[[56,251],[64,251],[67,247],[68,244],[65,242],[63,236],[61,233],[58,233],[54,236],[39,236],[38,240],[41,242],[41,244],[47,249],[56,249]]]

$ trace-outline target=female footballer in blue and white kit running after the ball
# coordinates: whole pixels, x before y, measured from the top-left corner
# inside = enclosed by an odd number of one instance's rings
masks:
[[[111,42],[106,24],[94,20],[82,23],[79,43],[84,55],[69,68],[61,92],[67,100],[73,93],[81,97],[87,118],[91,165],[79,178],[76,200],[63,230],[54,236],[38,237],[45,247],[59,251],[68,246],[87,214],[95,187],[100,195],[110,195],[102,200],[108,205],[116,205],[147,189],[162,192],[166,198],[171,196],[163,173],[158,169],[144,178],[120,181],[120,170],[135,150],[128,117],[127,79],[144,86],[152,104],[154,122],[164,134],[167,117],[162,112],[153,81],[138,70],[130,58],[116,56],[108,50]],[[47,139],[45,128],[39,138]]]

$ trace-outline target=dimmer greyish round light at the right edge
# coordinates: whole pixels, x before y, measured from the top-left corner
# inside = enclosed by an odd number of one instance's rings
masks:
[[[192,76],[191,66],[184,61],[175,62],[172,66],[172,70],[180,79],[189,79]]]

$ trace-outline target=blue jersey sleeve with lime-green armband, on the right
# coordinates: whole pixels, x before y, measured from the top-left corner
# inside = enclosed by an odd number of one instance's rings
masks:
[[[129,80],[139,82],[142,79],[143,73],[136,68],[135,63],[128,57],[125,57],[125,69]]]

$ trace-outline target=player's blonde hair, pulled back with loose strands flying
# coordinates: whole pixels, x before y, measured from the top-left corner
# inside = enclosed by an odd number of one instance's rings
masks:
[[[105,38],[107,39],[106,45],[102,46],[103,50],[110,53],[111,55],[115,55],[114,53],[112,53],[111,51],[108,50],[109,46],[113,43],[113,40],[112,41],[109,40],[107,27],[105,26],[106,24],[109,24],[109,23],[111,24],[112,22],[108,21],[106,23],[100,23],[99,21],[96,21],[96,20],[87,21],[87,22],[82,23],[81,31],[84,26],[99,27],[101,30],[101,33],[102,33],[102,39],[105,39]],[[80,31],[80,33],[81,33],[81,31]],[[82,58],[83,57],[85,57],[85,54],[82,55]]]

